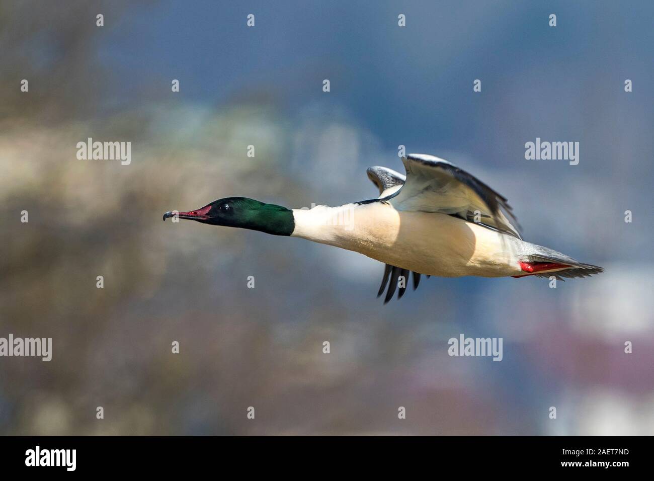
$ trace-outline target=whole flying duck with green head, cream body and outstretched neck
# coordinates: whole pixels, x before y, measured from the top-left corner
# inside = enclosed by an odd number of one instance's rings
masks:
[[[405,174],[373,166],[378,188],[370,200],[288,209],[246,197],[226,197],[170,217],[203,224],[291,236],[354,251],[385,264],[384,304],[402,298],[421,276],[552,277],[565,280],[604,272],[548,247],[523,240],[506,198],[447,160],[402,157]]]

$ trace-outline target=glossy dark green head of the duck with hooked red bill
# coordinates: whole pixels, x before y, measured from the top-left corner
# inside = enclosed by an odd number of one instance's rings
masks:
[[[163,220],[178,215],[215,226],[241,227],[260,230],[275,236],[290,236],[295,228],[293,211],[275,204],[264,204],[247,197],[226,197],[207,204],[201,209],[188,212],[166,212]]]

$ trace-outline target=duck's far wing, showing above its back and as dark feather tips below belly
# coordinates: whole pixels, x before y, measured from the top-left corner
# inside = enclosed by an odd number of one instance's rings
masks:
[[[368,170],[366,170],[366,173],[368,173],[368,179],[379,188],[380,199],[392,196],[392,194],[400,190],[406,179],[406,177],[401,173],[387,167],[369,167]],[[413,277],[413,289],[416,289],[420,283],[421,274],[411,272],[411,276]],[[390,281],[390,283],[388,281]],[[391,300],[396,289],[398,291],[398,299],[404,296],[404,291],[406,291],[407,285],[409,285],[409,271],[386,264],[377,297],[384,293],[387,285],[388,290],[384,299],[384,304]],[[398,285],[400,286],[399,289]]]

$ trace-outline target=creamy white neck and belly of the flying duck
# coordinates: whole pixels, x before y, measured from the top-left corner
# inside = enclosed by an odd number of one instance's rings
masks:
[[[506,234],[445,214],[396,211],[388,204],[377,202],[349,205],[354,207],[327,208],[334,210],[323,213],[326,217],[320,221],[314,215],[317,225],[311,228],[304,222],[308,215],[304,215],[305,219],[301,219],[303,215],[296,216],[296,224],[300,217],[301,225],[293,235],[431,276],[524,274],[515,253],[516,242],[520,241]],[[344,215],[342,210],[337,210],[343,208],[349,208],[349,213]],[[320,226],[323,221],[331,224]]]

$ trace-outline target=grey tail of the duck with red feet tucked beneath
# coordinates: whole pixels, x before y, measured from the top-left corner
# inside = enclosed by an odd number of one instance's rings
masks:
[[[589,277],[593,274],[600,274],[604,269],[593,264],[584,264],[578,260],[569,257],[560,252],[548,249],[542,245],[531,245],[530,253],[526,253],[522,260],[519,262],[525,274],[521,276],[538,276],[538,277],[551,277],[554,276],[560,281],[567,279],[574,279],[575,277]]]

